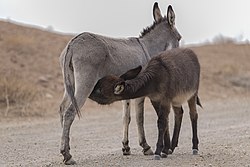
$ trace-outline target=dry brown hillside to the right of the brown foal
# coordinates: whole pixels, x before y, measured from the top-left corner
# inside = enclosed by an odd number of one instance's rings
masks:
[[[201,63],[200,96],[250,97],[250,45],[221,44],[194,47]]]

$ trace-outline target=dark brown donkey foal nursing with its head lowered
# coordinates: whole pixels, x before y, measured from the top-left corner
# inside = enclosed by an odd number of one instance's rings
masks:
[[[141,66],[120,77],[109,75],[96,84],[93,94],[100,104],[147,96],[158,116],[158,140],[154,159],[171,154],[178,145],[183,108],[188,101],[193,130],[193,154],[198,153],[196,104],[200,105],[198,88],[200,64],[190,49],[172,49],[153,57],[140,72]],[[172,142],[169,134],[169,112],[173,108],[175,125]]]

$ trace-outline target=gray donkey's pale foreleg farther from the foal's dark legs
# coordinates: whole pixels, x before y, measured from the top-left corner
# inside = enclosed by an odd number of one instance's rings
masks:
[[[123,155],[130,155],[130,147],[128,145],[129,140],[128,140],[128,130],[129,130],[129,123],[131,120],[131,116],[130,116],[130,100],[123,100],[122,101],[123,104],[123,139],[122,139],[122,144],[123,144],[123,148],[122,148],[122,152]]]

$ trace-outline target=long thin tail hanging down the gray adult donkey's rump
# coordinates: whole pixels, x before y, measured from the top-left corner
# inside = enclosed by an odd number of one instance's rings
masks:
[[[71,72],[71,69],[70,69],[70,63],[71,63],[72,56],[73,56],[73,53],[72,53],[72,50],[70,49],[70,43],[69,43],[67,46],[67,49],[66,49],[66,52],[64,55],[64,61],[63,61],[64,83],[65,83],[66,92],[68,93],[68,95],[71,99],[72,105],[74,106],[76,113],[77,113],[78,117],[80,118],[81,112],[78,108],[76,98],[74,95],[75,89],[73,88],[73,85],[72,85],[71,80],[70,80],[71,78],[74,78],[72,76],[74,74],[73,74],[73,72]]]

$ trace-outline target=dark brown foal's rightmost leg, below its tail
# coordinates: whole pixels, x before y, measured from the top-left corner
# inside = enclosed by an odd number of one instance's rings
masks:
[[[189,101],[188,101],[188,106],[189,106],[189,115],[192,123],[192,131],[193,131],[193,154],[196,155],[198,154],[198,144],[199,144],[199,139],[197,135],[197,121],[198,121],[198,113],[196,110],[196,100],[197,96],[193,96]]]

